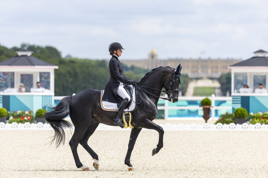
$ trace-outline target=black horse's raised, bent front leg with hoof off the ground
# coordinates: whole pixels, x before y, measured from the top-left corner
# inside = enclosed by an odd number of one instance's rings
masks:
[[[164,130],[162,127],[157,125],[156,123],[150,121],[149,119],[144,119],[144,121],[140,122],[137,126],[146,128],[146,129],[154,129],[158,131],[159,133],[159,140],[157,147],[153,149],[152,156],[154,156],[156,153],[159,152],[161,148],[163,148],[163,136],[164,136]]]

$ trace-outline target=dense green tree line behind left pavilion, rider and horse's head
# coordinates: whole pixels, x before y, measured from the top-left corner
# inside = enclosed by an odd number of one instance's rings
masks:
[[[9,49],[0,45],[0,61],[16,56],[16,51],[23,48],[33,51],[32,56],[59,67],[55,69],[55,96],[69,96],[87,88],[104,90],[106,83],[110,79],[109,60],[63,58],[61,57],[61,52],[51,46],[41,47],[22,43],[20,47]],[[124,62],[127,63],[127,61]],[[128,67],[124,63],[122,65],[124,75],[137,82],[149,72],[146,69],[135,66]],[[180,92],[183,95],[186,92],[189,81],[190,79],[187,75],[181,76]]]

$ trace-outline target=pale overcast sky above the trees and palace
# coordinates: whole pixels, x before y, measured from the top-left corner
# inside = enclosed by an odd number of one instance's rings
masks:
[[[53,46],[62,56],[143,59],[242,58],[268,51],[267,0],[0,0],[0,44]]]

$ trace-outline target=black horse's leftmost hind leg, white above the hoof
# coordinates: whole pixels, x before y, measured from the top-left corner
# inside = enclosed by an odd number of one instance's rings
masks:
[[[80,162],[80,159],[79,159],[79,156],[77,153],[77,146],[78,146],[80,140],[83,138],[87,127],[88,127],[88,125],[82,126],[82,127],[81,126],[75,127],[74,132],[73,132],[73,136],[69,142],[69,145],[70,145],[72,153],[73,153],[74,161],[76,162],[76,167],[82,168],[83,171],[89,171],[89,168]]]

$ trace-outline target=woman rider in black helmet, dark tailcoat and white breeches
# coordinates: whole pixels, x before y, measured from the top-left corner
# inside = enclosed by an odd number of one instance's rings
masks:
[[[124,76],[121,62],[119,61],[119,57],[122,54],[123,47],[118,42],[113,42],[109,46],[110,55],[112,58],[109,62],[109,70],[110,70],[110,80],[107,82],[105,86],[105,90],[103,93],[102,100],[109,101],[113,103],[119,103],[120,99],[118,99],[117,95],[123,98],[123,102],[120,104],[118,108],[118,113],[114,118],[114,124],[119,125],[120,127],[124,127],[124,124],[121,123],[121,118],[125,107],[127,106],[130,96],[127,94],[126,90],[123,88],[124,84],[133,85],[136,83],[134,80],[131,80]]]

